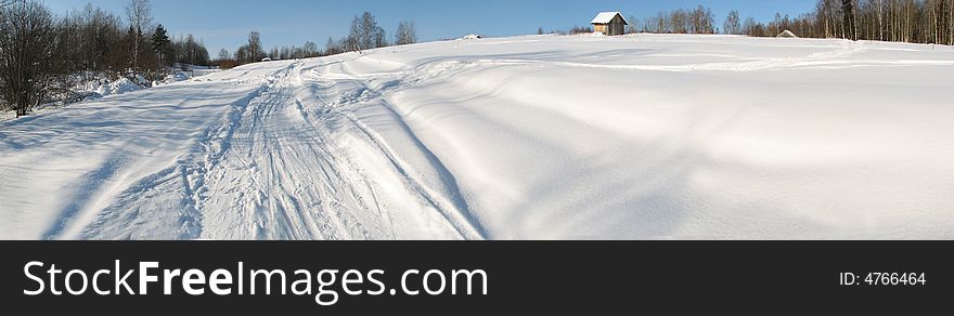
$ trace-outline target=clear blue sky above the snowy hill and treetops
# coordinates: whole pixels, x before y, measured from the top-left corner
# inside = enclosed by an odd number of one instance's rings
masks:
[[[124,14],[128,0],[46,0],[57,13],[81,9],[86,3]],[[351,18],[371,11],[388,35],[400,21],[414,21],[422,41],[456,38],[467,34],[507,36],[544,29],[588,25],[600,11],[620,11],[636,18],[659,11],[712,9],[717,24],[730,10],[743,18],[770,21],[775,12],[791,16],[809,12],[816,0],[152,0],[155,22],[173,35],[193,34],[205,40],[214,56],[230,52],[249,31],[259,30],[266,47],[301,45],[313,41],[324,47],[330,36],[347,34]]]

